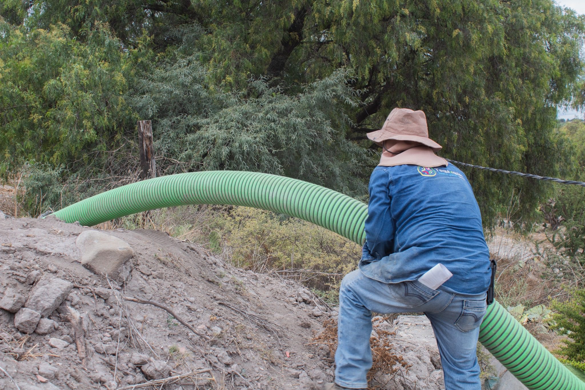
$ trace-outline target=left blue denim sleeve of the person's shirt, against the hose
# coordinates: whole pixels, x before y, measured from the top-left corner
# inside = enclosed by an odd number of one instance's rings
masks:
[[[370,202],[366,218],[366,243],[362,260],[380,260],[392,253],[394,224],[390,212],[390,178],[386,170],[374,169],[370,176]]]

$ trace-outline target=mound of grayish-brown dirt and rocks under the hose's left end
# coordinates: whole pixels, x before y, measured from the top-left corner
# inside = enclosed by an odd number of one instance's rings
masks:
[[[153,230],[0,220],[0,388],[320,389],[336,309]],[[386,389],[441,389],[436,345],[400,329]],[[405,325],[407,324],[407,325]],[[402,336],[404,333],[404,336]],[[374,335],[375,336],[375,335]],[[428,336],[428,335],[427,335]]]

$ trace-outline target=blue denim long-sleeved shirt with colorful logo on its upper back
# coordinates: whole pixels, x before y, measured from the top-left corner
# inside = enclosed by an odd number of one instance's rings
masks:
[[[443,284],[480,294],[490,284],[490,258],[477,201],[458,168],[378,166],[370,177],[366,243],[360,270],[398,283],[438,263],[453,276]]]

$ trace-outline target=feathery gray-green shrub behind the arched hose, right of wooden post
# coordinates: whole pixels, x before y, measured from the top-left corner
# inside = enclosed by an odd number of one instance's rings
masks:
[[[178,161],[167,173],[184,170],[268,172],[363,192],[358,177],[366,150],[345,137],[356,106],[345,70],[305,85],[298,94],[249,80],[244,91],[214,91],[208,73],[193,57],[163,65],[143,80],[135,106],[153,122],[157,153]]]

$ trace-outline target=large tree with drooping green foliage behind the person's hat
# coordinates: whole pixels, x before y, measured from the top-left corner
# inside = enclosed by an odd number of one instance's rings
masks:
[[[347,118],[336,131],[346,140],[376,150],[365,133],[391,109],[423,109],[443,156],[541,175],[564,173],[556,106],[578,105],[582,95],[584,17],[552,0],[7,0],[0,15],[31,30],[64,23],[83,43],[108,23],[125,50],[159,56],[154,68],[144,67],[144,81],[159,72],[180,74],[181,64],[171,71],[173,59],[193,58],[210,93],[245,96],[249,104],[262,96],[249,80],[294,98],[351,69],[338,87],[361,93],[353,104],[335,102]],[[162,121],[166,114],[159,112]],[[148,119],[159,120],[153,114]],[[190,137],[212,123],[190,127]],[[506,175],[467,174],[488,225],[510,194],[531,215],[550,189]]]

